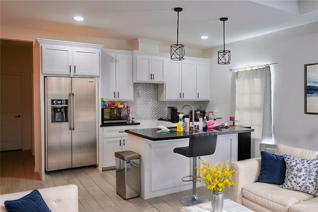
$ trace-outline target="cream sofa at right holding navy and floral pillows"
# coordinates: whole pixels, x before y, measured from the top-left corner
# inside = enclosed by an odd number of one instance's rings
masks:
[[[290,154],[300,159],[318,158],[318,151],[277,144],[275,154]],[[260,173],[261,158],[252,158],[231,163],[237,173],[233,180],[235,202],[256,212],[318,212],[318,197],[283,189],[279,185],[255,183]]]

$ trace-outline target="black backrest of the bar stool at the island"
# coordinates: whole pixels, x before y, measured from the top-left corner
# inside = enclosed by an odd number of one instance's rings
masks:
[[[217,145],[217,132],[199,132],[190,135],[187,157],[212,155]]]

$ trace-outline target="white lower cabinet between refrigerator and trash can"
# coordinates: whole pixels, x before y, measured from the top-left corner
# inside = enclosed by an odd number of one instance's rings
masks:
[[[139,125],[106,126],[101,128],[99,165],[102,168],[115,166],[115,152],[128,150],[128,137],[125,129],[136,129]]]

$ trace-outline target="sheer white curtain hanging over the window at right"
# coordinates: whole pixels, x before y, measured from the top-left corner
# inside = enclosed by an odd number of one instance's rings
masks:
[[[232,70],[230,113],[236,125],[248,125],[251,157],[259,157],[259,144],[272,143],[271,74],[269,65]]]

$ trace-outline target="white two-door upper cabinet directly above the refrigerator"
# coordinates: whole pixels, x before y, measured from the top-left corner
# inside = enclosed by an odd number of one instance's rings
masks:
[[[99,76],[100,49],[103,45],[37,39],[43,74]]]

